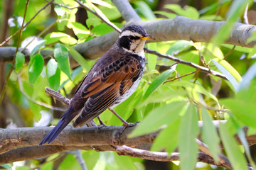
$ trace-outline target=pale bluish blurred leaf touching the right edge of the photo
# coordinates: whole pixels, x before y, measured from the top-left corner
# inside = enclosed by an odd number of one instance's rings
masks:
[[[250,85],[250,82],[256,75],[256,62],[252,64],[252,66],[247,70],[245,75],[242,77],[242,81],[240,81],[240,84],[238,86],[238,90],[245,89],[247,86]]]

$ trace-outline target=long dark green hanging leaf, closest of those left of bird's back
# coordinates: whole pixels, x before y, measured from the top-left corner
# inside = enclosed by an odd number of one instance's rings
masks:
[[[64,45],[56,44],[54,47],[54,57],[55,60],[58,62],[58,67],[61,71],[63,71],[69,79],[70,77],[70,62],[68,59],[68,50],[65,48]]]

